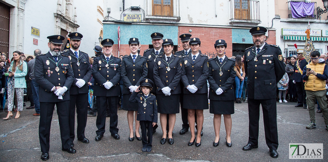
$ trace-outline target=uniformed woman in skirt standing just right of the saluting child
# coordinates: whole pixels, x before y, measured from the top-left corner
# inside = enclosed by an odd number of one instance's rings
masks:
[[[181,56],[174,55],[173,42],[171,39],[163,39],[165,55],[156,57],[154,66],[154,80],[157,86],[157,109],[160,113],[163,137],[161,144],[166,142],[166,135],[169,137],[169,144],[173,144],[172,132],[175,124],[175,114],[180,109],[180,79],[182,72]],[[166,115],[169,114],[169,123]],[[169,124],[168,134],[166,125]]]

